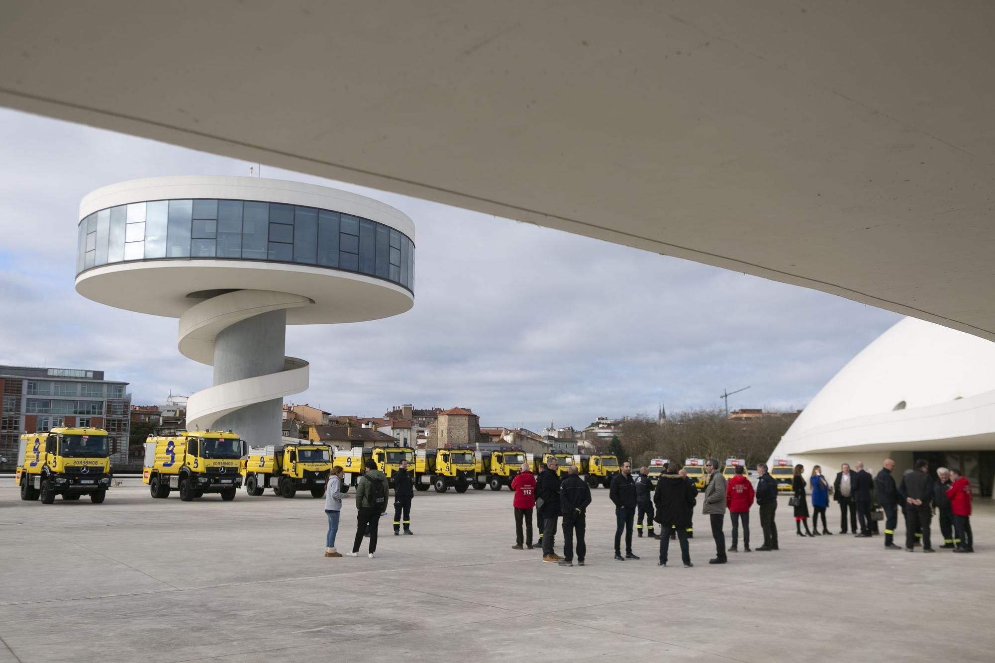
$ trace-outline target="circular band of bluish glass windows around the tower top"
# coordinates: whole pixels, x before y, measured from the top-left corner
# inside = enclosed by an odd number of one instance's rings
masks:
[[[333,210],[255,200],[149,200],[80,221],[77,274],[138,260],[213,258],[314,265],[414,292],[415,245],[390,226]]]

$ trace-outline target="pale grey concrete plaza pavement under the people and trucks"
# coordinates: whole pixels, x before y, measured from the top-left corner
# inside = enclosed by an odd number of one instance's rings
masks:
[[[102,505],[45,506],[20,502],[2,480],[0,663],[769,662],[879,652],[990,661],[995,650],[988,500],[976,501],[975,554],[886,552],[881,538],[839,534],[798,539],[784,496],[780,552],[709,565],[714,545],[698,514],[695,567],[681,565],[675,543],[661,568],[654,540],[635,540],[641,560],[613,560],[614,512],[597,489],[587,565],[561,568],[538,548],[510,550],[506,490],[416,494],[415,536],[393,536],[391,510],[369,559],[366,542],[356,558],[322,556],[322,503],[306,494],[182,503],[139,486],[126,480]],[[351,501],[343,509],[341,551],[355,534]],[[755,512],[751,525],[757,547]],[[835,509],[830,525],[839,532]],[[725,532],[728,541],[728,518]],[[935,521],[933,533],[940,538]]]

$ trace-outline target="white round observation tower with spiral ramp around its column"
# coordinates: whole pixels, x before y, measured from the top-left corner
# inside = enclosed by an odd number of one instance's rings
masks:
[[[415,228],[398,210],[312,184],[253,177],[138,179],[80,204],[76,290],[179,319],[179,350],[214,366],[189,430],[281,437],[283,398],[307,388],[287,325],[378,320],[414,305]]]

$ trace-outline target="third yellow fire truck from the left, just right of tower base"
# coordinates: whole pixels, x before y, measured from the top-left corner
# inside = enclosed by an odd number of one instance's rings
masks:
[[[277,495],[293,498],[298,490],[312,498],[324,496],[331,474],[331,447],[326,444],[282,444],[254,447],[242,459],[242,480],[253,497],[272,488]]]

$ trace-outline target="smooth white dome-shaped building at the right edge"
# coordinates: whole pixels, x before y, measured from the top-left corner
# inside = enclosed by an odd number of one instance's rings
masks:
[[[906,318],[819,391],[771,462],[789,458],[807,474],[891,457],[900,471],[916,451],[981,449],[995,449],[995,343]]]

